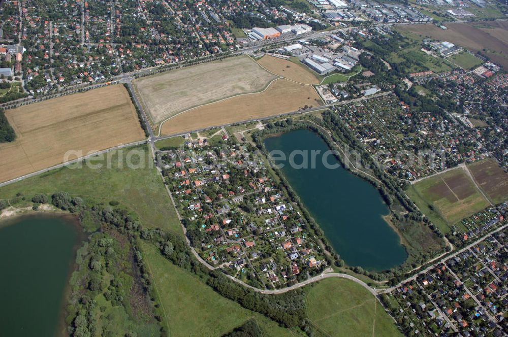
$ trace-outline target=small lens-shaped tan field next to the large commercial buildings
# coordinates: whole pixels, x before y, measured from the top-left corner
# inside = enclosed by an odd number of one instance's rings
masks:
[[[268,71],[298,83],[319,84],[321,82],[317,77],[312,75],[311,72],[305,70],[302,65],[288,60],[265,55],[258,63]]]

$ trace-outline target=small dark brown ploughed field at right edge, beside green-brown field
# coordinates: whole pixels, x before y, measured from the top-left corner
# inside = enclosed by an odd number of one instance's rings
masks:
[[[504,172],[494,159],[487,158],[467,167],[494,204],[508,199],[508,173]]]

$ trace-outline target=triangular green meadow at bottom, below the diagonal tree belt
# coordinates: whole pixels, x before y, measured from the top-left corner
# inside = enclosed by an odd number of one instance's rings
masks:
[[[265,336],[292,335],[263,315],[220,296],[196,276],[166,260],[153,245],[143,243],[142,247],[166,314],[163,323],[169,325],[169,336],[221,336],[251,318]]]

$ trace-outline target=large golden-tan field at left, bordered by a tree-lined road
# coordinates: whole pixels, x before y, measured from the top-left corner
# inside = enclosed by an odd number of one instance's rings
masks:
[[[86,155],[145,137],[122,85],[7,110],[6,116],[17,138],[0,144],[0,182],[62,163],[68,150]]]

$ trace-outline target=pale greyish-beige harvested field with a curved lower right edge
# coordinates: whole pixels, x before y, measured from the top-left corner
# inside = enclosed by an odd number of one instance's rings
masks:
[[[153,123],[182,111],[261,91],[277,77],[248,56],[230,57],[143,77],[133,82]]]

